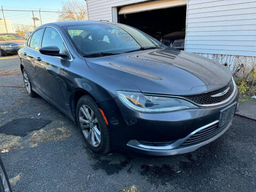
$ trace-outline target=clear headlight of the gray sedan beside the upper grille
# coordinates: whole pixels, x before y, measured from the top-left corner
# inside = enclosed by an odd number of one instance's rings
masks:
[[[116,92],[123,103],[142,113],[161,113],[182,109],[196,109],[197,106],[183,99],[147,95],[137,92]]]

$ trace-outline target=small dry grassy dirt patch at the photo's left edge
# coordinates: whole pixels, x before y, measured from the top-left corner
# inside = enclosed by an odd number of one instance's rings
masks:
[[[0,151],[6,153],[20,146],[21,138],[14,135],[0,133]]]

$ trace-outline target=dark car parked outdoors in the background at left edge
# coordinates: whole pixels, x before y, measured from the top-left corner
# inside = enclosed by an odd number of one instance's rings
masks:
[[[18,34],[0,34],[0,57],[7,54],[17,54],[25,44],[26,40]]]

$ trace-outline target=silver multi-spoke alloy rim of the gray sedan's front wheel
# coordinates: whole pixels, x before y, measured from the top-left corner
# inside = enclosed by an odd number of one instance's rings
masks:
[[[101,129],[98,119],[90,107],[82,105],[79,108],[79,123],[85,139],[91,146],[98,147],[101,142]]]

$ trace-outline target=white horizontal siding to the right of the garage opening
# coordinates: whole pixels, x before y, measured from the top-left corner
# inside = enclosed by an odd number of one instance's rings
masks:
[[[256,0],[188,0],[185,50],[256,56]]]

